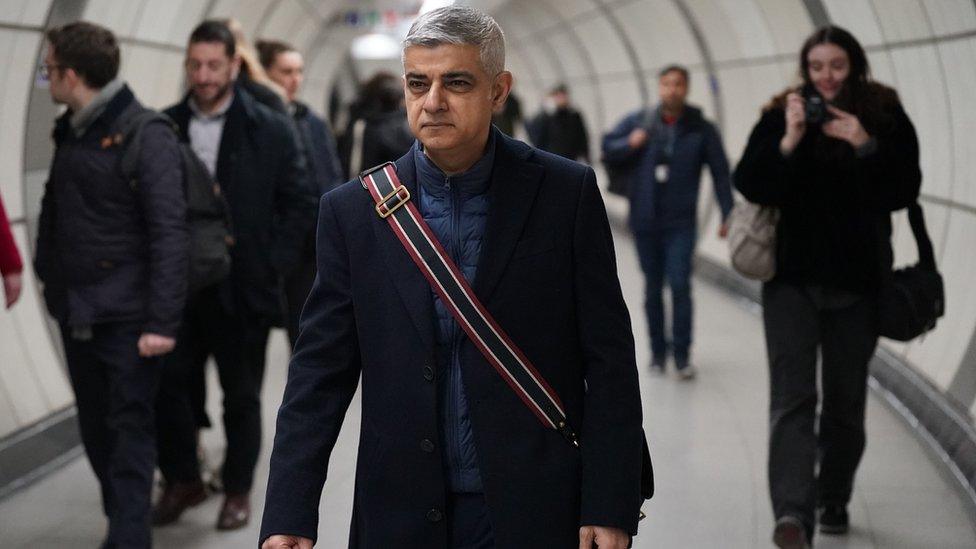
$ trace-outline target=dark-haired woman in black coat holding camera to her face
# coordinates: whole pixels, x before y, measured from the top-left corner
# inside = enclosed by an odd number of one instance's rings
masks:
[[[780,212],[762,300],[773,541],[784,548],[808,547],[816,521],[821,533],[847,531],[890,212],[915,202],[922,178],[915,129],[849,32],[810,36],[800,76],[766,106],[735,173],[747,199]]]

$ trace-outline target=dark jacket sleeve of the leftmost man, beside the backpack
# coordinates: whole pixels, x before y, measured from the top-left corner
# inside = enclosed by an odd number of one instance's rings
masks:
[[[190,249],[176,134],[162,123],[147,125],[139,156],[137,199],[149,241],[149,307],[143,330],[175,337],[186,303]]]

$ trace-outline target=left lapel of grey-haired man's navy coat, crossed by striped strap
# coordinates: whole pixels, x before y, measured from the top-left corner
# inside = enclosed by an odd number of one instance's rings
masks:
[[[417,171],[413,161],[413,150],[411,149],[397,160],[396,166],[400,183],[410,191],[411,200],[419,203],[420,197],[417,193]],[[366,191],[363,190],[363,193]],[[372,202],[372,199],[370,201]],[[373,232],[387,274],[392,279],[393,285],[407,308],[407,312],[410,314],[424,345],[433,350],[435,343],[434,303],[430,284],[420,273],[420,269],[417,268],[413,260],[410,259],[407,251],[403,249],[403,244],[397,239],[387,221],[380,219],[372,208],[370,208],[370,212],[374,216]]]

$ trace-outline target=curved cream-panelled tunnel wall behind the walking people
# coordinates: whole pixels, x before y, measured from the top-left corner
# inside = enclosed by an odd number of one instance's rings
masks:
[[[527,114],[544,91],[566,82],[591,132],[656,97],[657,70],[691,69],[692,102],[719,123],[734,163],[759,108],[793,82],[796,52],[816,26],[849,28],[869,51],[875,77],[893,85],[922,145],[923,204],[949,304],[939,328],[911,344],[884,342],[892,354],[966,415],[976,412],[976,3],[972,0],[472,0],[506,31],[509,67]],[[359,31],[341,23],[351,5],[391,2],[312,0],[0,0],[0,192],[25,256],[50,161],[56,110],[36,64],[46,26],[84,18],[122,41],[122,76],[145,103],[181,94],[182,58],[193,25],[233,16],[250,36],[288,40],[306,52],[305,99],[323,106]],[[706,185],[708,184],[706,175]],[[707,189],[707,186],[706,186]],[[613,200],[612,198],[610,200]],[[727,266],[715,238],[717,212],[702,193],[699,255]],[[915,260],[907,223],[896,229],[899,263]],[[0,312],[0,440],[70,407],[56,337],[32,274],[21,303]],[[706,343],[707,344],[707,343]],[[757,353],[760,351],[757,350]],[[757,359],[758,359],[757,355]]]

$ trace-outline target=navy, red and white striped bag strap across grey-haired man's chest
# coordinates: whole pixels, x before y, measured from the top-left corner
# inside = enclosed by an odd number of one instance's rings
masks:
[[[410,191],[400,183],[396,165],[386,162],[366,170],[359,180],[376,203],[376,214],[387,221],[410,259],[488,364],[545,427],[555,429],[579,446],[559,396],[475,295],[411,201]]]

